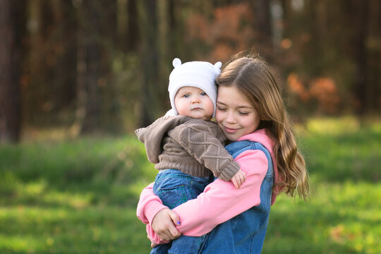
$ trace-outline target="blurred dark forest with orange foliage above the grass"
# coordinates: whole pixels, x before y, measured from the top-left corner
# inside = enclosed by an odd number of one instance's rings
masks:
[[[2,143],[147,126],[174,57],[260,54],[300,121],[381,109],[378,0],[2,0],[0,37]]]

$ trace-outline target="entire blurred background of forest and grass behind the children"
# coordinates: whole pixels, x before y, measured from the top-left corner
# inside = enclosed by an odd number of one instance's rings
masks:
[[[310,173],[262,253],[381,253],[380,0],[0,0],[0,253],[150,252],[133,134],[175,57],[260,54]]]

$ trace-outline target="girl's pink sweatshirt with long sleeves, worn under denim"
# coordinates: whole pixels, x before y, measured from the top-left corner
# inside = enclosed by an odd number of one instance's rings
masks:
[[[239,140],[259,142],[269,150],[274,166],[275,184],[278,183],[279,177],[272,153],[272,140],[266,135],[265,129],[244,135]],[[235,161],[246,173],[246,181],[241,188],[235,188],[231,181],[216,179],[197,198],[188,200],[173,209],[176,214],[179,214],[181,226],[176,227],[182,234],[202,236],[212,231],[218,224],[260,204],[260,185],[265,178],[268,163],[265,154],[260,150],[246,150],[238,155]],[[153,193],[152,187],[153,183],[150,183],[142,191],[137,215],[140,221],[147,224],[147,234],[152,241],[160,243],[159,237],[152,230],[150,224],[157,212],[167,207],[162,205],[162,201]],[[277,192],[278,190],[275,189],[272,193],[272,205],[277,197]]]

